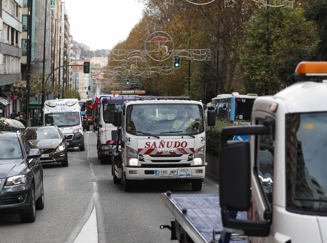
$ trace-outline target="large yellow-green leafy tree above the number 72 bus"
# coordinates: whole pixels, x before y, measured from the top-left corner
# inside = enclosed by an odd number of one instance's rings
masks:
[[[267,32],[267,10],[259,9],[244,25],[246,42],[240,67],[247,93],[272,95],[297,81],[294,75],[286,75],[290,70],[285,69],[285,65],[294,73],[295,63],[306,56],[317,41],[311,22],[304,19],[302,12],[302,8],[270,8]],[[294,57],[298,59],[287,62]]]

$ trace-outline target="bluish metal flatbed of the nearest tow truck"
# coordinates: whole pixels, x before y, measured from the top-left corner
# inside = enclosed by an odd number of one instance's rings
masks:
[[[219,242],[219,235],[224,237],[219,194],[169,194],[161,194],[164,205],[174,216],[175,223],[178,223],[194,242],[216,243]],[[246,212],[238,212],[236,217],[246,219],[247,215]],[[246,243],[247,237],[232,234],[230,241],[220,242]]]

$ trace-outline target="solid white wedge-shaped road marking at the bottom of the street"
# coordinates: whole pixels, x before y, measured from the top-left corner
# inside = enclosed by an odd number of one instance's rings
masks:
[[[95,182],[93,182],[95,183]],[[77,235],[74,243],[97,243],[98,242],[98,228],[96,223],[96,211],[95,207],[92,211],[90,218],[87,220],[86,224],[83,226],[82,230]]]

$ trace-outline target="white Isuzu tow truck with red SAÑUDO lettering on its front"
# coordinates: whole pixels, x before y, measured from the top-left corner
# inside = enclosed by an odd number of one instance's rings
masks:
[[[137,180],[180,179],[201,190],[206,165],[205,105],[185,100],[189,97],[142,98],[126,101],[115,111],[118,142],[109,146],[113,182],[123,181],[124,190],[131,191]]]

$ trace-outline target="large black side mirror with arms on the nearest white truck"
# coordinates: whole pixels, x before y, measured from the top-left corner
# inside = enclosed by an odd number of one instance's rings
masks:
[[[219,147],[219,200],[223,226],[241,230],[250,236],[268,236],[270,222],[242,220],[233,211],[247,211],[251,200],[250,143],[229,141],[234,135],[269,134],[270,128],[261,125],[226,127],[221,133]],[[236,214],[234,214],[236,215]],[[240,231],[238,231],[240,232]]]

